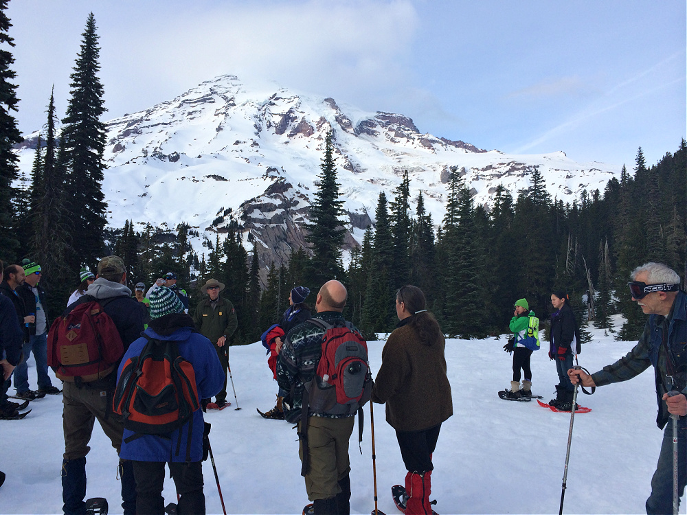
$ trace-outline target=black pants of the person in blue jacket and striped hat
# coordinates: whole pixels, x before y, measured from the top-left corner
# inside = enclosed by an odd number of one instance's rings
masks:
[[[205,495],[203,494],[202,461],[191,464],[168,463],[177,486],[179,503],[177,514],[205,514]],[[165,482],[164,461],[133,461],[133,474],[136,478],[137,515],[163,515],[165,501],[162,488]]]

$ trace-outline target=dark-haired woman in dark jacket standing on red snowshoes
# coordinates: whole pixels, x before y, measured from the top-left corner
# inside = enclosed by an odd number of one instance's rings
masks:
[[[551,343],[549,358],[556,362],[559,384],[556,385],[556,398],[549,404],[561,411],[572,409],[572,396],[575,387],[567,376],[572,368],[573,349],[575,339],[575,314],[569,304],[570,299],[564,291],[554,291],[551,294],[551,304],[555,311],[551,314]]]

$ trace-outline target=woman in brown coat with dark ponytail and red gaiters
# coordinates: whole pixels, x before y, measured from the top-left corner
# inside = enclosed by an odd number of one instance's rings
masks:
[[[407,515],[431,514],[431,453],[441,423],[453,415],[451,386],[446,376],[444,335],[425,309],[425,295],[416,286],[396,293],[400,322],[382,350],[372,402],[386,403],[386,420],[396,429],[408,473]]]

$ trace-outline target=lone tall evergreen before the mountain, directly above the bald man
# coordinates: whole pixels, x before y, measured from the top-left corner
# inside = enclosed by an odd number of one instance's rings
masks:
[[[332,132],[326,136],[324,159],[319,165],[319,186],[315,200],[311,204],[311,223],[306,225],[308,236],[306,242],[313,248],[311,260],[311,284],[322,286],[329,279],[341,278],[341,247],[343,247],[343,201],[339,200],[339,184],[335,165]]]

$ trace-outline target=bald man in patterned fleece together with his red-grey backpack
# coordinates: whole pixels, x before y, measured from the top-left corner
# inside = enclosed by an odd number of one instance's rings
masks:
[[[357,407],[365,402],[359,398],[349,405],[350,409],[346,409],[345,404],[340,404],[338,397],[326,409],[322,404],[317,407],[318,402],[314,402],[315,392],[318,390],[315,381],[319,379],[319,365],[324,361],[323,336],[329,334],[334,327],[334,331],[348,334],[353,347],[361,345],[361,336],[341,314],[346,306],[347,296],[346,288],[340,282],[333,280],[324,284],[315,302],[317,314],[286,335],[277,361],[278,385],[280,389],[289,392],[282,403],[284,417],[289,422],[298,422],[302,475],[305,477],[308,499],[313,501],[313,505],[306,507],[306,512],[318,515],[350,512],[348,440],[353,431]],[[364,344],[362,341],[363,346]],[[365,379],[369,377],[366,362],[367,347],[363,367],[358,367]],[[365,382],[365,385],[370,386],[367,391],[369,398],[371,382]],[[336,390],[338,394],[339,387]],[[364,393],[361,397],[363,396]]]

